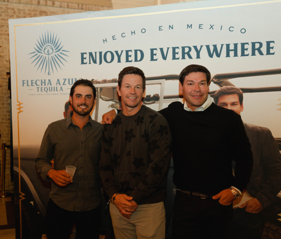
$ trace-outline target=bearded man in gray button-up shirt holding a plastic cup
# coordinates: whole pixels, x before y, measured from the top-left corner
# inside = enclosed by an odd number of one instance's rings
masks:
[[[95,97],[95,87],[89,80],[80,79],[73,84],[69,99],[74,112],[48,125],[35,159],[41,177],[52,180],[46,212],[48,239],[69,238],[73,222],[78,238],[99,235],[102,125],[90,116]],[[73,178],[65,172],[68,165],[76,167]]]

